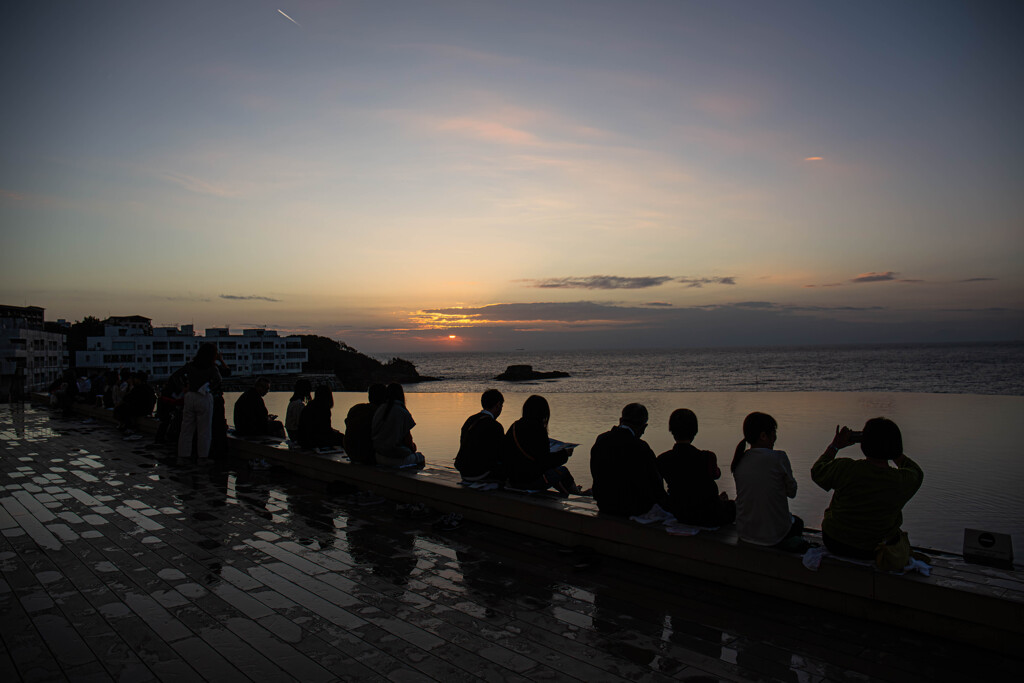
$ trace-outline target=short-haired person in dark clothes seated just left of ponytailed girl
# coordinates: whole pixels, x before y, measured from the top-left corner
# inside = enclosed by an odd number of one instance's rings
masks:
[[[681,408],[669,417],[669,431],[676,444],[657,457],[657,469],[669,487],[668,510],[684,524],[721,526],[736,518],[736,504],[718,493],[722,476],[718,458],[693,445],[697,416]]]

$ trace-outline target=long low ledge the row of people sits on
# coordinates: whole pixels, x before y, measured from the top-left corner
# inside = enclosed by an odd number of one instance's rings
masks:
[[[113,421],[110,411],[85,405],[76,410]],[[142,420],[139,428],[153,433],[156,421]],[[458,473],[449,469],[383,470],[289,449],[273,439],[230,438],[229,449],[232,457],[266,459],[310,479],[356,485],[564,546],[587,546],[604,555],[1012,656],[1019,656],[1024,642],[1020,567],[995,569],[967,564],[954,555],[933,555],[929,578],[889,574],[834,559],[815,572],[806,569],[799,556],[737,543],[734,530],[674,537],[659,526],[600,515],[590,499],[479,492],[460,486]]]

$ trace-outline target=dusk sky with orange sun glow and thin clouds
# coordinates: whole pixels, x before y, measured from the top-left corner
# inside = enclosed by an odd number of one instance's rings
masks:
[[[0,303],[368,352],[1021,340],[1022,19],[9,3]]]

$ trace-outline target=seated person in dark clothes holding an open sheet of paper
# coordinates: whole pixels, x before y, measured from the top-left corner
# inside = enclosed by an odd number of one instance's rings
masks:
[[[505,432],[502,460],[513,488],[554,488],[562,496],[579,494],[580,486],[565,463],[571,449],[551,452],[548,420],[551,409],[543,396],[532,395],[522,404],[522,417]]]

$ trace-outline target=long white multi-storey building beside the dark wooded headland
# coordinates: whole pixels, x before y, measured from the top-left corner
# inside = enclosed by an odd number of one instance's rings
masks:
[[[220,350],[232,377],[290,375],[302,372],[309,352],[299,337],[279,337],[276,330],[243,330],[232,335],[227,328],[208,328],[197,336],[193,326],[150,328],[105,325],[102,337],[89,337],[84,351],[78,351],[79,368],[127,368],[143,370],[153,380],[170,377],[191,360],[200,344],[211,342]]]

